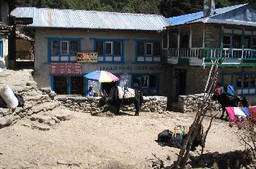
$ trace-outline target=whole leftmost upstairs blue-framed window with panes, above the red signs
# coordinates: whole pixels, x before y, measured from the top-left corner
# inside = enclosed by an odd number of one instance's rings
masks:
[[[48,62],[76,62],[82,38],[48,38]]]

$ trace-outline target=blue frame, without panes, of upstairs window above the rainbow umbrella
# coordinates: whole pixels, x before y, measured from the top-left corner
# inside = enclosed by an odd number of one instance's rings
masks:
[[[97,52],[97,47],[96,47],[96,43],[97,42],[102,42],[103,43],[103,55],[98,55],[98,57],[103,57],[103,61],[99,61],[98,60],[98,63],[124,63],[124,42],[127,41],[127,39],[98,39],[98,38],[91,38],[94,40],[94,52]],[[106,48],[106,45],[105,43],[106,42],[112,42],[112,55],[106,55],[106,51],[105,51],[105,48]],[[114,42],[121,42],[121,55],[114,55]],[[111,57],[112,60],[111,61],[106,61],[106,57]],[[121,60],[120,61],[114,61],[114,58],[115,57],[121,57]]]

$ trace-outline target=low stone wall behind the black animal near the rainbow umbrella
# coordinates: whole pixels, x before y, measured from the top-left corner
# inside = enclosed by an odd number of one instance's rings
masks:
[[[72,111],[83,111],[85,113],[93,113],[94,111],[100,111],[98,108],[99,97],[82,97],[78,95],[58,95],[55,97],[57,101],[69,108]],[[148,96],[143,97],[143,105],[140,111],[144,112],[156,112],[162,114],[167,109],[167,97],[164,96]],[[135,111],[135,107],[122,106],[122,111]]]

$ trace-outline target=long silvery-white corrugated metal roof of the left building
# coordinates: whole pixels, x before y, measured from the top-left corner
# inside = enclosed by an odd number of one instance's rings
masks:
[[[162,15],[18,7],[14,17],[33,17],[31,27],[158,31],[171,25]]]

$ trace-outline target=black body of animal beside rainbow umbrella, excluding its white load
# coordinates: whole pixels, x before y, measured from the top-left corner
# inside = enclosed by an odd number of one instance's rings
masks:
[[[106,104],[110,104],[111,106],[116,106],[116,114],[119,114],[121,105],[131,105],[135,106],[135,116],[138,116],[140,113],[140,107],[143,103],[143,95],[142,93],[135,91],[135,97],[131,98],[119,98],[118,97],[118,87],[112,87],[110,90],[109,96],[103,96],[99,100],[99,107],[105,106]]]

